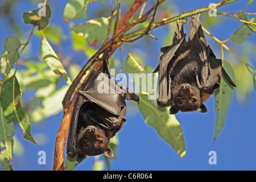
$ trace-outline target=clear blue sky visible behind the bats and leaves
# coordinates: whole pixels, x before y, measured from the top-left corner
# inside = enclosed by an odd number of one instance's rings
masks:
[[[60,3],[61,2],[61,3]],[[69,26],[64,22],[62,18],[63,9],[65,3],[68,1],[48,1],[52,9],[52,16],[49,24],[58,25],[63,30],[63,34],[69,36]],[[151,0],[149,2],[152,2]],[[168,2],[168,1],[167,1]],[[169,5],[165,2],[164,5]],[[172,1],[172,9],[175,9],[173,15],[185,11],[191,11],[205,7],[209,3],[218,1]],[[220,7],[222,12],[237,12],[242,10],[246,6],[247,1],[238,1]],[[105,2],[104,5],[110,6],[111,3]],[[164,6],[162,5],[162,6]],[[90,6],[88,9],[88,17],[95,13],[97,6],[100,3],[96,2],[94,6]],[[246,12],[255,13],[256,2],[254,1],[246,9]],[[22,14],[24,12],[37,9],[36,4],[30,3],[30,1],[20,1],[15,5],[15,22],[22,28],[22,35],[26,40],[31,30],[31,25],[24,24]],[[125,10],[122,11],[122,13]],[[108,16],[108,15],[106,15]],[[219,16],[219,15],[218,15]],[[218,16],[216,18],[218,18]],[[220,40],[229,38],[234,30],[237,30],[241,26],[241,22],[236,20],[221,17],[222,21],[216,26],[209,27],[208,30]],[[81,21],[81,20],[79,20]],[[77,23],[77,22],[75,22]],[[15,33],[10,28],[10,24],[6,19],[0,19],[0,52],[3,52],[3,42],[7,36],[15,36]],[[150,64],[151,67],[156,67],[159,64],[160,47],[167,46],[164,42],[167,35],[167,30],[163,27],[156,28],[156,30],[150,32],[157,36],[159,41],[150,40],[149,50],[145,50],[143,42],[138,40],[134,44],[127,44],[127,48],[133,46],[138,52],[143,52],[145,60],[144,65]],[[188,35],[188,34],[187,34]],[[246,43],[254,44],[255,46],[256,36],[255,33],[251,35]],[[28,55],[35,55],[39,53],[41,39],[33,35],[31,38],[29,51],[22,55],[21,59],[25,59]],[[212,47],[217,57],[221,57],[220,48],[218,44],[214,42],[209,36],[207,36],[207,42]],[[238,55],[242,55],[242,45],[234,45],[232,42],[228,42],[228,45],[232,45]],[[82,53],[74,53],[71,49],[71,42],[69,39],[63,42],[63,47],[67,55],[72,56],[72,60],[76,63],[83,65],[81,59],[84,56]],[[255,47],[254,47],[255,48]],[[36,52],[36,53],[35,53]],[[116,51],[118,52],[118,51]],[[35,54],[33,54],[35,53]],[[117,54],[118,55],[118,54]],[[228,55],[228,54],[227,54]],[[118,56],[117,56],[118,57]],[[251,64],[256,67],[255,55],[251,56]],[[76,59],[77,58],[77,59]],[[83,58],[87,60],[86,57]],[[226,57],[225,57],[226,59]],[[234,60],[239,63],[239,60]],[[236,81],[235,81],[236,82]],[[250,82],[251,83],[251,82]],[[214,111],[214,96],[210,96],[209,100],[205,102],[208,108],[207,113],[177,113],[176,117],[180,122],[183,129],[183,137],[185,140],[186,155],[184,158],[180,156],[172,149],[170,144],[164,142],[159,137],[157,131],[144,122],[144,118],[138,111],[138,107],[131,104],[131,101],[127,101],[127,121],[122,130],[118,133],[119,144],[117,147],[117,156],[114,159],[110,159],[110,167],[112,170],[255,170],[256,169],[256,93],[253,88],[250,89],[249,94],[245,101],[240,101],[236,97],[237,88],[234,89],[232,101],[226,114],[226,120],[221,133],[213,143],[216,113]],[[24,93],[26,95],[26,93]],[[23,98],[26,100],[26,98]],[[132,108],[134,107],[134,108]],[[32,136],[39,136],[38,134],[44,134],[44,139],[40,139],[38,144],[24,139],[22,137],[22,131],[19,126],[16,125],[16,138],[22,144],[22,155],[14,154],[13,165],[14,170],[51,170],[53,165],[53,152],[55,146],[55,140],[57,131],[59,130],[62,112],[54,115],[40,123],[31,122],[31,134]],[[38,164],[38,152],[46,151],[46,165]],[[208,155],[210,151],[216,151],[217,164],[210,165]],[[103,156],[100,156],[100,160],[104,160]],[[75,169],[76,170],[90,170],[94,163],[94,157],[86,158]],[[1,169],[1,167],[0,167]],[[106,167],[105,167],[106,169]]]

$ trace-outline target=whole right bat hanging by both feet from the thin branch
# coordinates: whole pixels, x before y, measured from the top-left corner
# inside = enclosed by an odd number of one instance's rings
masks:
[[[188,42],[184,23],[185,20],[177,22],[172,45],[160,49],[160,64],[154,71],[159,71],[157,101],[164,107],[171,100],[170,114],[195,110],[205,113],[207,107],[203,103],[219,88],[221,74],[230,85],[236,85],[207,45],[200,14],[192,16]]]

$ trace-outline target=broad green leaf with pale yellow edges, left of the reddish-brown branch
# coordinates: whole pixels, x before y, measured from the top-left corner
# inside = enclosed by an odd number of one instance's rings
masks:
[[[94,46],[105,39],[108,26],[108,18],[101,17],[90,19],[86,23],[77,24],[71,30],[79,36],[84,36],[86,42]]]

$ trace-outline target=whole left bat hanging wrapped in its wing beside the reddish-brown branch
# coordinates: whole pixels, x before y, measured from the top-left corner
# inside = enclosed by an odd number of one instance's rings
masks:
[[[115,82],[109,74],[108,51],[104,52],[101,70],[92,72],[82,89],[77,93],[69,126],[67,154],[77,161],[85,155],[105,154],[113,157],[109,147],[110,138],[126,121],[125,100],[138,101],[139,97],[125,86]],[[98,78],[101,78],[100,80]],[[102,81],[102,78],[103,81]],[[114,83],[111,84],[110,82]],[[99,93],[98,88],[108,88]],[[111,86],[111,85],[114,85]]]

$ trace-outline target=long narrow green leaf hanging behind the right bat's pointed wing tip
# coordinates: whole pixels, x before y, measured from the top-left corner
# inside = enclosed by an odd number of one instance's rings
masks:
[[[228,73],[229,77],[234,79],[234,71],[232,66],[225,60],[222,60],[223,67]],[[214,140],[221,132],[225,122],[226,111],[229,108],[229,104],[233,94],[233,86],[226,81],[225,77],[221,76],[220,88],[214,93],[215,111],[217,114],[216,129],[214,134]]]

